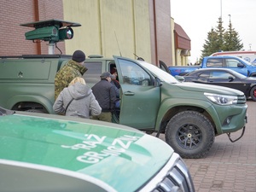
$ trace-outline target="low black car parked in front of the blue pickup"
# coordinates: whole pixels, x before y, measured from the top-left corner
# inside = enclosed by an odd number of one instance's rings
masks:
[[[256,102],[256,79],[224,68],[201,68],[183,76],[187,82],[216,84],[241,90],[245,96],[251,96]]]

